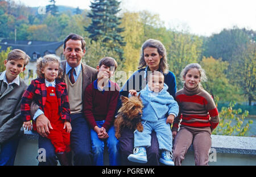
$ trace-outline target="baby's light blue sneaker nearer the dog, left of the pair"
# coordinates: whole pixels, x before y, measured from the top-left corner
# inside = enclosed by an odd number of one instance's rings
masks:
[[[145,147],[135,147],[133,154],[128,156],[128,160],[137,163],[147,163],[147,154]]]

